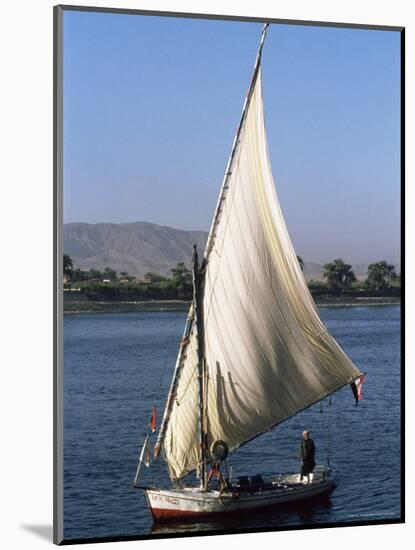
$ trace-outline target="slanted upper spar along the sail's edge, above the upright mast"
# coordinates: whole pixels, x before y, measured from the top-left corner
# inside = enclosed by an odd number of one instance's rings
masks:
[[[213,216],[213,222],[212,222],[212,225],[211,225],[211,228],[210,228],[210,231],[209,231],[209,235],[208,235],[208,239],[207,239],[207,243],[206,243],[206,249],[205,249],[205,259],[206,260],[209,257],[209,254],[210,254],[210,252],[212,250],[212,247],[213,247],[213,243],[215,241],[216,227],[219,223],[220,213],[221,213],[221,210],[222,210],[222,203],[226,199],[226,192],[229,188],[228,180],[229,180],[230,175],[232,174],[232,168],[233,168],[233,163],[234,163],[234,159],[235,159],[236,150],[238,148],[239,138],[240,138],[240,135],[241,135],[243,124],[245,122],[246,113],[248,112],[248,107],[249,107],[249,103],[251,101],[252,93],[253,93],[254,88],[255,88],[255,83],[256,83],[257,76],[258,76],[259,67],[261,65],[262,48],[264,46],[265,37],[267,35],[268,27],[269,27],[269,23],[265,23],[265,25],[262,27],[261,40],[259,41],[258,53],[257,53],[256,58],[255,58],[254,72],[252,74],[251,83],[249,85],[248,92],[247,92],[246,97],[245,97],[244,105],[242,107],[241,119],[239,121],[239,125],[238,125],[238,128],[236,130],[235,138],[233,140],[231,154],[229,156],[228,164],[226,166],[225,175],[223,177],[222,186],[221,186],[221,189],[220,189],[220,192],[219,192],[219,198],[218,198],[218,202],[217,202],[216,209],[215,209],[215,214]]]

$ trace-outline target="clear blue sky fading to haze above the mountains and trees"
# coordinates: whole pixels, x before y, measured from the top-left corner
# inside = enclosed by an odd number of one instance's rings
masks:
[[[261,27],[65,12],[65,222],[208,230]],[[397,32],[268,29],[271,164],[305,261],[400,261],[399,56]]]

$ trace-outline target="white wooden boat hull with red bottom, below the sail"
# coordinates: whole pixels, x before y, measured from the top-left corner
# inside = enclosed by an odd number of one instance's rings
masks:
[[[222,493],[198,488],[146,488],[145,494],[155,520],[202,518],[235,512],[257,510],[316,497],[331,491],[334,481],[319,477],[310,483],[299,483],[298,476],[287,482],[274,482],[260,490]]]

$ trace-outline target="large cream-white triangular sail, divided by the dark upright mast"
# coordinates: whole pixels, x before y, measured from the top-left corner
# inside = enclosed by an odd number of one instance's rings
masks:
[[[203,288],[208,446],[231,450],[346,385],[360,373],[320,320],[278,202],[258,69]],[[193,326],[165,427],[170,476],[199,460],[197,339]]]

